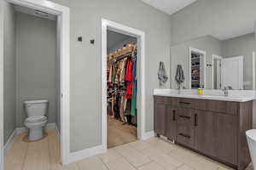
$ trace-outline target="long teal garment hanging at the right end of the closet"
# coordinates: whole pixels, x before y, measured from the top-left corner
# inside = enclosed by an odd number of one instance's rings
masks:
[[[132,61],[132,98],[131,98],[131,116],[136,116],[136,103],[137,103],[137,55],[134,54]]]

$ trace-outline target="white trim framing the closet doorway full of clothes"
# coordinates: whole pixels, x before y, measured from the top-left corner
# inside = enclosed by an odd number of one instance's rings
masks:
[[[138,139],[148,139],[150,134],[145,132],[145,32],[124,26],[119,23],[102,19],[102,145],[108,150],[108,117],[107,117],[107,31],[116,31],[128,36],[137,37],[139,58],[139,79],[138,79]],[[154,133],[153,133],[154,134]]]

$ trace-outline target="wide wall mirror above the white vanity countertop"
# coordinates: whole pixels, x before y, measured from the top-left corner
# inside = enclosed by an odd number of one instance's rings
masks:
[[[224,39],[198,37],[173,45],[171,54],[171,78],[183,65],[183,88],[255,89],[254,31]],[[177,88],[175,81],[172,87]]]

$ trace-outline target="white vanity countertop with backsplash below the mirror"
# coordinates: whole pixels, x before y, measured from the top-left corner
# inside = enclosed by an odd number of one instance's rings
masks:
[[[220,101],[247,102],[256,99],[254,90],[230,90],[229,96],[225,97],[221,90],[203,90],[203,94],[198,95],[197,90],[182,89],[181,94],[178,94],[177,89],[154,89],[154,95],[189,98],[189,99],[210,99]]]

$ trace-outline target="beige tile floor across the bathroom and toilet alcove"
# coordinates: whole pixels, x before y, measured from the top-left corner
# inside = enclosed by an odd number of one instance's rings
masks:
[[[15,136],[5,156],[4,170],[231,170],[216,161],[162,139],[136,141],[62,167],[54,130],[38,142]],[[250,168],[251,170],[252,168]]]

